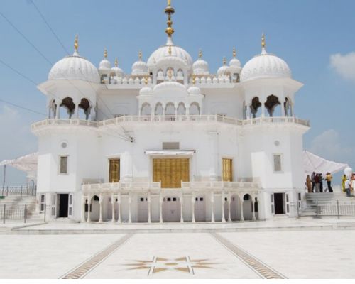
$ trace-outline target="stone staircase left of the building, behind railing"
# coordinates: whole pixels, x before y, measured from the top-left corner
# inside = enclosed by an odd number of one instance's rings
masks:
[[[33,219],[39,217],[38,214],[35,214],[35,196],[23,195],[21,197],[10,195],[4,199],[0,199],[0,219],[4,217],[4,205],[6,205],[5,219],[21,219],[23,217],[25,205],[27,209],[27,218]]]

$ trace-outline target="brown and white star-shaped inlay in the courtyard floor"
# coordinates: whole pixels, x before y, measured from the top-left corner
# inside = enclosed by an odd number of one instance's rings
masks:
[[[195,274],[194,268],[214,268],[212,265],[219,264],[209,262],[208,259],[191,259],[190,256],[180,258],[161,258],[154,256],[152,261],[134,261],[127,263],[126,266],[132,266],[128,270],[147,269],[148,276],[161,271],[181,271],[183,273]]]

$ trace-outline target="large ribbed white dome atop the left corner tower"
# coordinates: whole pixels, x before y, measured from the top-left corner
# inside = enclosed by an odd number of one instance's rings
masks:
[[[99,84],[100,77],[92,62],[82,58],[75,50],[73,55],[66,56],[53,65],[48,80],[83,80]]]

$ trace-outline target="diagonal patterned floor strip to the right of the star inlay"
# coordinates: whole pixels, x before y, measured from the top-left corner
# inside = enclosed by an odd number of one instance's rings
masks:
[[[285,279],[286,277],[281,273],[278,273],[273,268],[270,268],[265,263],[259,261],[250,253],[244,251],[239,246],[232,244],[229,240],[225,239],[223,236],[217,233],[210,233],[214,239],[217,239],[222,245],[226,247],[231,253],[234,253],[241,261],[243,261],[247,266],[249,266],[253,271],[261,275],[262,278],[266,279]]]

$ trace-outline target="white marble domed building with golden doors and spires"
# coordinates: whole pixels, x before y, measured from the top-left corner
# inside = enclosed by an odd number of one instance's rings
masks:
[[[217,74],[168,39],[131,74],[75,52],[38,86],[38,211],[82,222],[228,222],[304,206],[302,136],[287,63],[266,52]]]

